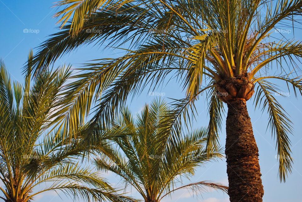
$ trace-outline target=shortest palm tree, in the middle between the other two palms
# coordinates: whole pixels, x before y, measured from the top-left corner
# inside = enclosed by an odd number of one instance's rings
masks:
[[[118,149],[95,160],[102,171],[112,171],[133,186],[145,202],[159,202],[182,188],[206,191],[207,188],[227,190],[221,184],[200,181],[177,186],[182,177],[194,175],[195,168],[208,160],[221,157],[217,151],[209,158],[206,151],[206,131],[195,130],[188,135],[176,134],[171,111],[164,102],[145,105],[137,121],[128,109],[107,130],[116,137]]]

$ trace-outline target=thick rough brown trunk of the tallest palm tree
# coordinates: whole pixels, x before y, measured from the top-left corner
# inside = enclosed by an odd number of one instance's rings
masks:
[[[242,98],[228,102],[226,118],[226,163],[231,202],[261,202],[264,194],[258,147],[252,123]]]

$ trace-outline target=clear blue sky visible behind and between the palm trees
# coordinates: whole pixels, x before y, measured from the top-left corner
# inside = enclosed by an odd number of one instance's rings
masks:
[[[37,47],[43,42],[49,34],[58,31],[56,19],[52,16],[56,8],[52,8],[55,0],[27,0],[27,1],[11,1],[0,0],[0,58],[4,59],[7,69],[11,73],[12,79],[23,81],[21,68],[26,62],[27,54],[31,48]],[[24,33],[24,29],[28,29],[29,33]],[[25,31],[26,32],[26,31]],[[293,34],[290,33],[290,34]],[[302,32],[295,30],[295,39],[301,40]],[[34,49],[34,53],[36,53]],[[108,57],[118,57],[118,51],[102,51],[99,47],[83,46],[77,51],[64,56],[56,65],[63,63],[72,64],[73,67],[80,67],[81,63],[90,59],[100,59]],[[301,75],[301,72],[300,72]],[[288,93],[286,86],[281,86],[282,92]],[[169,98],[183,98],[182,89],[178,88],[174,82],[169,83],[165,87],[156,89],[167,102]],[[145,103],[151,102],[154,96],[149,96],[146,90],[132,102],[129,102],[133,113],[141,110]],[[254,129],[254,136],[259,147],[259,160],[262,173],[262,182],[264,185],[264,201],[265,202],[302,202],[301,182],[302,182],[302,99],[299,101],[294,95],[288,98],[277,97],[280,103],[291,116],[294,124],[293,135],[290,136],[292,141],[292,157],[294,158],[293,173],[289,175],[286,183],[280,183],[278,172],[278,161],[276,159],[275,141],[271,138],[271,132],[266,131],[268,116],[266,111],[262,114],[261,110],[254,109],[252,100],[248,102],[248,110]],[[198,118],[195,126],[206,126],[208,123],[207,103],[202,97],[197,104]],[[224,122],[225,124],[225,122]],[[225,145],[225,125],[222,127],[220,136],[221,145]],[[121,187],[120,180],[113,174],[104,174],[108,181]],[[226,162],[220,160],[218,162],[209,162],[204,167],[197,169],[196,175],[192,177],[191,182],[209,180],[227,184]],[[187,181],[189,182],[189,181]],[[130,189],[128,189],[130,191]],[[36,202],[71,202],[72,199],[67,198],[64,194],[49,192],[36,197]],[[131,195],[131,194],[129,194]],[[133,196],[137,196],[135,192]],[[187,190],[180,191],[167,197],[165,202],[227,202],[227,194],[213,191],[199,196],[192,195]]]

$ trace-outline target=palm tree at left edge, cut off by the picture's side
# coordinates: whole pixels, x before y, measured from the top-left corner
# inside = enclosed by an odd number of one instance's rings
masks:
[[[60,91],[70,67],[43,71],[34,83],[30,72],[28,65],[24,86],[12,85],[0,61],[0,198],[29,202],[38,194],[62,191],[85,201],[131,201],[115,194],[98,172],[77,163],[85,149],[77,141],[63,143],[64,132],[56,127],[47,132],[54,111],[64,104]]]

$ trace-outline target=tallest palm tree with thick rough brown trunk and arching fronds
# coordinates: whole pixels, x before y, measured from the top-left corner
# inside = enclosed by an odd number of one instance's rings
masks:
[[[254,105],[269,114],[279,177],[285,181],[291,172],[288,135],[292,123],[274,97],[280,90],[273,82],[284,81],[295,95],[301,93],[297,62],[302,43],[283,34],[289,32],[286,27],[294,29],[300,24],[295,20],[302,12],[300,0],[64,0],[59,5],[65,6],[57,14],[63,30],[41,45],[34,59],[36,75],[83,44],[107,42],[107,47],[129,45],[131,49],[119,58],[93,61],[74,77],[78,81],[70,85],[69,98],[75,104],[70,116],[62,120],[81,125],[73,115],[89,112],[93,98],[87,92],[102,93],[95,98],[93,130],[96,123],[113,118],[129,94],[140,93],[147,86],[159,87],[176,77],[187,97],[175,103],[175,124],[194,109],[200,95],[208,95],[210,154],[219,144],[226,103],[230,200],[262,201],[258,148],[246,108],[246,101],[256,91]]]

